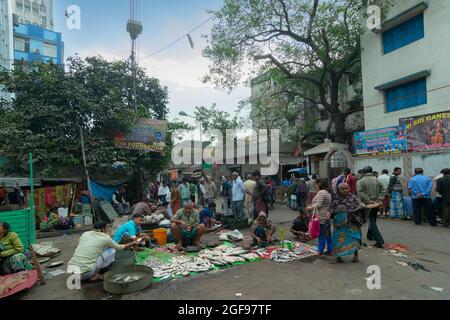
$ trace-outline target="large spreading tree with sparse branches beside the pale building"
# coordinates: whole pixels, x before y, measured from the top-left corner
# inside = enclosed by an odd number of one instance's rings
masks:
[[[336,141],[345,141],[345,119],[361,110],[342,106],[345,76],[360,69],[361,13],[383,0],[225,0],[204,55],[212,64],[205,81],[232,89],[244,78],[275,70],[280,93],[300,97],[329,114]],[[249,69],[250,68],[250,69]],[[361,79],[358,79],[361,81]],[[331,125],[330,125],[331,128]]]

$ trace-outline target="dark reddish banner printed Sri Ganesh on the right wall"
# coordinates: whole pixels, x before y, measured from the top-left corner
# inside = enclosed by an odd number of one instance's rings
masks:
[[[450,111],[400,119],[406,126],[408,151],[450,148]]]

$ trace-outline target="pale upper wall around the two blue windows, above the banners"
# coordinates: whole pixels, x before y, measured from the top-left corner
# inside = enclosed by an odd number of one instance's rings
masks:
[[[389,17],[422,3],[421,0],[397,0]],[[450,1],[427,1],[424,14],[425,37],[388,54],[383,54],[381,33],[367,31],[362,39],[365,129],[398,125],[400,118],[450,109]],[[427,104],[387,113],[384,92],[375,87],[420,71],[427,77]]]

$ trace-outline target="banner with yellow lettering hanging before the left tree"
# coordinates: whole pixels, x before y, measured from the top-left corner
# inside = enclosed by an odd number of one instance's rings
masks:
[[[131,133],[115,133],[116,148],[163,153],[166,147],[167,121],[139,119]]]

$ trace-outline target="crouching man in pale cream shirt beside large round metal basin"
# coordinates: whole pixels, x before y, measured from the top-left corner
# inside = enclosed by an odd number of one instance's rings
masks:
[[[81,236],[69,261],[67,273],[81,275],[82,281],[102,281],[100,271],[114,262],[116,250],[126,250],[136,244],[137,242],[118,244],[106,234],[106,223],[97,223],[93,231],[85,232]]]

